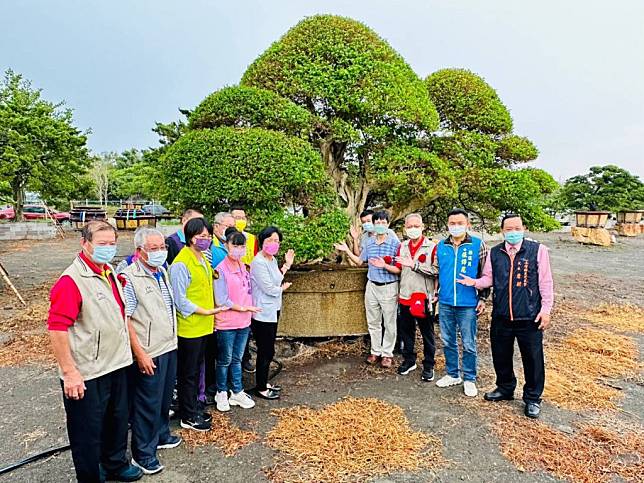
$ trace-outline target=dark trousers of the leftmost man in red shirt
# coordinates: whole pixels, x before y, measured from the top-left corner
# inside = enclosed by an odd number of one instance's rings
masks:
[[[63,381],[61,381],[63,386]],[[127,450],[127,368],[85,381],[82,399],[67,399],[67,435],[72,449],[76,478],[81,483],[104,481],[109,473],[124,470]]]

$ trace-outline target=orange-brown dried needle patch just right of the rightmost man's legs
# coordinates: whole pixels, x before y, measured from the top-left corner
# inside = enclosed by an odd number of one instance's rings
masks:
[[[604,330],[575,330],[563,343],[546,350],[548,371],[544,398],[567,409],[616,409],[618,390],[602,377],[638,371],[635,341]]]

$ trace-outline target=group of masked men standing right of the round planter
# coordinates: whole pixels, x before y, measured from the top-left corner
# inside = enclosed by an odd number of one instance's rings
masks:
[[[418,326],[423,340],[421,379],[433,381],[437,315],[446,374],[436,386],[463,384],[465,395],[476,397],[477,319],[493,288],[490,338],[497,387],[484,398],[513,399],[516,340],[525,375],[525,415],[539,417],[545,382],[543,330],[550,324],[554,287],[548,250],[524,238],[521,217],[503,217],[504,241],[491,250],[469,232],[470,219],[462,209],[448,213],[449,236],[438,243],[424,236],[418,213],[405,218],[407,238],[403,242],[389,228],[387,212],[367,210],[360,219],[362,234],[355,228],[350,233],[353,247],[338,243],[336,249],[346,253],[354,265],[368,264],[364,301],[371,351],[367,363],[391,367],[398,340],[403,356],[398,374],[415,370]]]

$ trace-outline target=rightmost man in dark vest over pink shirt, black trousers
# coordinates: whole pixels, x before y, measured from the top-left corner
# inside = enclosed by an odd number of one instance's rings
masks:
[[[514,398],[517,379],[512,367],[514,340],[519,344],[525,385],[525,415],[538,418],[545,383],[543,330],[550,325],[554,286],[548,249],[524,239],[523,221],[508,214],[501,221],[505,241],[492,250],[481,278],[463,276],[459,283],[482,289],[494,288],[490,340],[496,372],[496,389],[488,401]]]

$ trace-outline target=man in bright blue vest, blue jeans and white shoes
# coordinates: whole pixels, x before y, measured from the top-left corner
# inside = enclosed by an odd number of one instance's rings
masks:
[[[438,271],[438,317],[447,374],[436,381],[438,387],[463,384],[466,396],[476,397],[477,316],[485,310],[489,290],[478,291],[457,283],[463,275],[477,278],[483,271],[488,248],[485,242],[467,231],[466,211],[454,209],[447,214],[449,237],[436,249],[434,270]],[[463,343],[463,364],[459,369],[458,332]],[[461,376],[462,372],[462,376]]]

